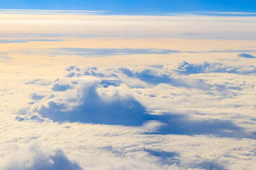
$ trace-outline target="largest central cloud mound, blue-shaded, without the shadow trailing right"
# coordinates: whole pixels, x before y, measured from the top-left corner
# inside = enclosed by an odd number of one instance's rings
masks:
[[[98,89],[99,81],[81,83],[67,93],[45,97],[33,112],[56,122],[87,122],[108,125],[141,125],[145,107],[120,86]],[[70,94],[73,94],[70,95]]]

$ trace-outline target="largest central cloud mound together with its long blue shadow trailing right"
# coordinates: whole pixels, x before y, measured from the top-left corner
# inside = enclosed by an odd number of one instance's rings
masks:
[[[55,83],[52,84],[55,85]],[[62,83],[65,84],[63,81]],[[249,135],[245,134],[244,129],[232,121],[208,119],[207,117],[193,120],[182,113],[152,110],[148,108],[144,100],[151,100],[154,104],[150,103],[150,105],[155,105],[155,100],[159,99],[158,95],[147,93],[143,100],[136,99],[136,95],[124,84],[104,87],[99,79],[93,78],[84,82],[80,81],[69,91],[57,92],[50,92],[48,96],[32,106],[30,114],[35,114],[34,116],[18,116],[16,119],[22,121],[35,118],[43,121],[45,119],[45,121],[52,120],[54,122],[68,121],[123,126],[142,126],[148,121],[154,121],[162,123],[161,127],[154,132],[157,134],[211,133],[226,137],[248,137]],[[37,114],[40,116],[36,116]],[[204,128],[201,128],[202,126]]]

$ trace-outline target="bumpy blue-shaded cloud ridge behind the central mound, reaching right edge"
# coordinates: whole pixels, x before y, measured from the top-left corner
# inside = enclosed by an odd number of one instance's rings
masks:
[[[223,63],[195,63],[190,64],[186,61],[179,62],[176,65],[157,65],[143,67],[120,67],[120,68],[97,68],[84,67],[79,68],[70,66],[66,68],[68,73],[66,77],[84,77],[93,76],[99,77],[100,82],[105,87],[109,85],[119,86],[124,83],[130,88],[149,88],[154,85],[169,84],[175,87],[194,88],[200,90],[210,90],[216,88],[218,91],[223,91],[224,88],[241,90],[234,84],[212,85],[204,79],[185,77],[189,74],[201,73],[230,73],[230,74],[254,74],[256,68],[254,66],[230,66]],[[154,94],[152,94],[154,96]]]

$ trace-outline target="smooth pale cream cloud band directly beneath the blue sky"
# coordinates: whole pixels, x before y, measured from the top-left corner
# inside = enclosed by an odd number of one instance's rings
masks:
[[[3,34],[77,37],[172,37],[201,39],[255,39],[255,16],[141,16],[106,15],[106,11],[1,10]],[[17,15],[20,14],[20,15]],[[41,14],[41,15],[38,15]],[[33,15],[37,18],[33,19]],[[31,18],[32,17],[32,18]],[[120,25],[119,21],[122,20]],[[179,20],[180,24],[177,24]],[[19,21],[19,22],[17,22]],[[104,21],[104,22],[102,22]],[[241,21],[243,27],[241,27]],[[86,24],[85,24],[86,23]],[[156,23],[152,25],[151,23]],[[193,25],[197,23],[197,25]],[[51,27],[49,27],[51,25]],[[133,26],[132,28],[129,26]],[[104,28],[104,30],[102,30]],[[145,31],[146,30],[146,31]],[[185,35],[189,33],[190,35]],[[199,33],[199,34],[198,34]],[[193,36],[193,34],[195,36]],[[13,35],[12,35],[13,36]]]

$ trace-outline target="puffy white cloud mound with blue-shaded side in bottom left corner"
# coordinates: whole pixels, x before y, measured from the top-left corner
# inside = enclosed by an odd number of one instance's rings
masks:
[[[11,155],[3,156],[0,163],[1,170],[83,170],[62,150],[49,150],[38,144],[25,145]]]

